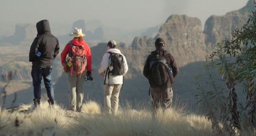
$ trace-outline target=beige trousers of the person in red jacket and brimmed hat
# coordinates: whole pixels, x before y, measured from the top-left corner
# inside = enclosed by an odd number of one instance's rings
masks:
[[[80,112],[82,109],[82,99],[83,99],[83,81],[85,77],[85,72],[82,75],[72,76],[68,74],[68,98],[69,98],[69,110]]]

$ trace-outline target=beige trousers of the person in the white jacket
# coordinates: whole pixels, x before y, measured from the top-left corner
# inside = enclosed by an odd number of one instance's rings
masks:
[[[121,84],[104,85],[104,112],[117,114]]]

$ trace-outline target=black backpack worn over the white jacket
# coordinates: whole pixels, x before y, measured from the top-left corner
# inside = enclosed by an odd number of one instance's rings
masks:
[[[108,78],[110,79],[111,76],[122,76],[124,75],[124,58],[123,55],[118,54],[118,53],[110,53],[110,66],[107,68],[106,71],[106,76],[105,76],[105,81],[104,85],[106,82],[106,77],[108,75]]]

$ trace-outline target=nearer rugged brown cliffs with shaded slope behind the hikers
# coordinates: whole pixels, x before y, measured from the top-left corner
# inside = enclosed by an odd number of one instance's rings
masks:
[[[202,65],[205,61],[206,54],[212,51],[214,44],[219,42],[220,39],[230,38],[232,30],[240,28],[245,24],[251,11],[255,11],[255,9],[253,2],[249,1],[245,7],[237,11],[229,12],[224,16],[211,16],[207,19],[204,30],[201,30],[201,21],[196,17],[172,15],[160,26],[154,38],[147,36],[135,37],[131,46],[120,43],[121,46],[119,46],[119,49],[126,56],[129,66],[120,99],[122,101],[127,99],[128,101],[137,102],[147,100],[148,102],[149,85],[146,78],[142,75],[143,66],[147,55],[155,50],[155,39],[162,37],[166,42],[165,49],[173,54],[180,68],[180,73],[175,78],[173,88],[174,96],[177,95],[180,102],[187,102],[188,105],[195,107],[196,101],[194,95],[197,90],[192,76],[197,73],[205,75]],[[103,78],[99,76],[97,71],[102,55],[106,52],[106,43],[99,43],[97,46],[91,47],[91,52],[94,80],[84,83],[84,96],[85,99],[88,96],[89,99],[100,100],[102,102]],[[66,78],[66,74],[63,73],[59,76],[55,84],[56,98],[58,102],[64,104],[68,100],[68,84]],[[29,95],[32,97],[31,88],[29,91],[31,92]],[[28,89],[19,91],[20,97],[26,97],[22,95],[22,92],[28,94],[26,93]],[[10,95],[9,97],[11,98],[13,96]]]

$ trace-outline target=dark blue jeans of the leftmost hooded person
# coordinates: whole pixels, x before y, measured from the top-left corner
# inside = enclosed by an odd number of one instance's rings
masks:
[[[36,100],[41,99],[41,80],[42,77],[45,82],[46,92],[49,100],[54,100],[54,90],[52,83],[52,69],[53,67],[40,68],[32,66],[31,76],[33,78],[34,96]]]

